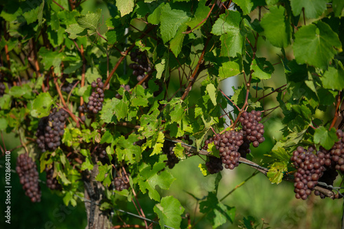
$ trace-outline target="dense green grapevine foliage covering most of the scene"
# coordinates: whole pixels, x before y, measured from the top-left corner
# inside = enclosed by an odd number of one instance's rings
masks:
[[[65,205],[87,199],[89,228],[122,225],[111,212],[126,210],[126,201],[147,219],[140,207],[145,197],[158,221],[153,226],[186,228],[190,212],[178,196],[162,194],[175,181],[169,168],[189,157],[204,159],[194,173],[216,176],[200,212],[213,228],[233,222],[235,206],[217,197],[219,171],[255,166],[249,148],[259,149],[264,125],[258,122],[269,122],[273,112],[281,113],[282,138],[256,162],[268,168],[260,171],[272,184],[293,179],[297,167],[290,157],[298,146],[327,152],[341,141],[343,1],[104,2],[92,12],[80,0],[0,3],[0,130],[17,133],[20,154],[47,172],[47,184]],[[266,43],[275,53],[264,52]],[[272,63],[275,56],[279,62]],[[276,66],[286,84],[268,87]],[[242,84],[226,95],[219,85],[230,77]],[[265,107],[268,99],[275,107]],[[262,129],[261,136],[248,137],[253,145],[245,143],[251,126],[241,118],[253,117],[250,111],[257,111],[250,122]],[[324,113],[326,120],[319,118]],[[226,157],[219,149],[217,140],[226,143],[232,134],[232,151],[246,144],[247,155],[230,157],[226,149]],[[215,142],[204,144],[210,137]],[[341,163],[328,155],[332,164]],[[212,163],[217,165],[209,169]],[[331,168],[341,174],[340,165]],[[341,197],[328,187],[314,188],[322,197]],[[32,201],[36,195],[41,193]],[[150,223],[138,220],[147,228]]]

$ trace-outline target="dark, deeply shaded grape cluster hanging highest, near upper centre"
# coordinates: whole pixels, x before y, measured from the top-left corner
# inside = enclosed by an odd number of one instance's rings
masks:
[[[144,78],[145,73],[151,70],[147,55],[145,52],[135,50],[130,53],[130,58],[134,63],[129,64],[129,67],[133,69],[133,75],[136,76],[136,80],[140,81]]]

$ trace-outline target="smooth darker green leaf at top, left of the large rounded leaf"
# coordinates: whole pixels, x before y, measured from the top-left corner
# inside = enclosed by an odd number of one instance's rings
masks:
[[[284,16],[286,10],[282,6],[272,6],[269,10],[270,13],[264,14],[261,19],[264,34],[272,45],[287,47],[290,43],[291,28]]]

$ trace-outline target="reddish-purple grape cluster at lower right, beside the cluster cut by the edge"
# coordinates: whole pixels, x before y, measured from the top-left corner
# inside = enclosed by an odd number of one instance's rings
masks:
[[[312,146],[308,151],[298,146],[292,153],[291,161],[297,167],[297,172],[294,173],[294,193],[297,199],[307,199],[325,171],[324,153],[319,151],[315,155],[313,151]]]

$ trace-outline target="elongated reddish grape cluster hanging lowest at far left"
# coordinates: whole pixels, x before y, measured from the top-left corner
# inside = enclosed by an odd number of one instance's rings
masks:
[[[39,186],[39,172],[36,163],[26,154],[17,157],[17,174],[20,183],[32,202],[41,201],[41,187]]]

